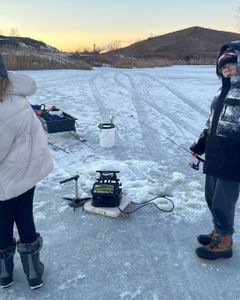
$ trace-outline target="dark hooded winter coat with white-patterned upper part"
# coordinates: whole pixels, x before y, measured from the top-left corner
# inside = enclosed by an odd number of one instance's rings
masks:
[[[238,54],[238,72],[223,78],[217,67],[222,87],[213,99],[206,128],[190,149],[205,153],[204,173],[240,182],[240,41],[224,45],[218,57],[227,48]]]

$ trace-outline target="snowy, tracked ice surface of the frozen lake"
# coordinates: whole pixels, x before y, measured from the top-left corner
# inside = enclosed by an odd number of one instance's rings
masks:
[[[38,91],[32,104],[55,105],[78,118],[79,142],[49,134],[54,172],[36,190],[37,229],[44,238],[44,286],[30,291],[16,255],[14,285],[2,300],[238,299],[239,207],[234,257],[204,262],[196,236],[212,229],[204,201],[204,176],[188,167],[187,151],[203,129],[219,82],[213,66],[91,71],[24,71]],[[99,146],[100,122],[115,116],[116,144]],[[56,147],[53,147],[55,145]],[[61,150],[62,149],[62,150]],[[106,218],[73,211],[63,196],[89,196],[96,170],[119,170],[123,191],[135,202],[167,194],[175,210],[144,207],[129,217]],[[157,201],[168,208],[166,200]],[[17,235],[17,232],[16,232]]]

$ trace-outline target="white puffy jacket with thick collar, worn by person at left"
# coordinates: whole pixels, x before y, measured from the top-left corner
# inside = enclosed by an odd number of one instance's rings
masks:
[[[46,135],[26,96],[34,80],[8,73],[10,86],[0,102],[0,201],[17,197],[53,170]]]

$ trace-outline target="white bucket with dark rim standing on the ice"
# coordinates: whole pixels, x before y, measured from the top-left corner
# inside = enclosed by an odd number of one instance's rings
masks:
[[[103,148],[111,148],[115,145],[115,125],[103,123],[99,132],[99,144]]]

